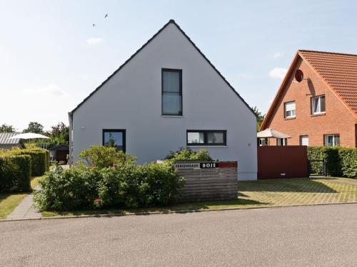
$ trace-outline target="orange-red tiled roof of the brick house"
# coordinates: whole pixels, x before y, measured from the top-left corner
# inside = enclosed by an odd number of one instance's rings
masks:
[[[288,77],[292,75],[293,68],[300,57],[316,71],[320,78],[328,85],[328,88],[333,90],[348,110],[357,117],[357,55],[298,50],[271,107],[264,117],[261,130],[265,129],[286,87],[286,83],[288,83]]]

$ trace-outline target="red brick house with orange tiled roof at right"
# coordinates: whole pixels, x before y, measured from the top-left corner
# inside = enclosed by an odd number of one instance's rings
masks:
[[[261,125],[269,145],[357,147],[357,55],[299,50]]]

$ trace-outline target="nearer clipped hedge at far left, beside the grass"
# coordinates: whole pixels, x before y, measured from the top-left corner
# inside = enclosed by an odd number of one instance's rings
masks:
[[[0,192],[31,191],[31,157],[14,155],[0,157]]]

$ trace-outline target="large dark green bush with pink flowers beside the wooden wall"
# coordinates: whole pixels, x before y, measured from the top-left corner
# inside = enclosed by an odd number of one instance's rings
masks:
[[[162,206],[174,203],[183,178],[169,162],[134,162],[116,167],[56,167],[39,182],[34,200],[42,210],[71,211],[108,207]]]

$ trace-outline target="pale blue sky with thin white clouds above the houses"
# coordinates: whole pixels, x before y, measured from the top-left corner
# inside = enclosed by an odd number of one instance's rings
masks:
[[[357,54],[356,12],[352,0],[0,0],[0,125],[68,125],[169,19],[265,113],[298,49]]]

